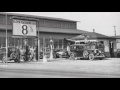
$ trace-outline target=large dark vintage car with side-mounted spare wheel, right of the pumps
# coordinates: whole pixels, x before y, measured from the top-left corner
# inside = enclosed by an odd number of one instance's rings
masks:
[[[89,44],[74,44],[70,46],[70,59],[89,59],[99,58],[102,60],[105,55],[99,49],[90,48]]]

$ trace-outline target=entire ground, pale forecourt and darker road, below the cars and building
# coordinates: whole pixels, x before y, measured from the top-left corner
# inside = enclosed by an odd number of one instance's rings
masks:
[[[49,60],[46,63],[0,62],[0,78],[120,78],[120,58]]]

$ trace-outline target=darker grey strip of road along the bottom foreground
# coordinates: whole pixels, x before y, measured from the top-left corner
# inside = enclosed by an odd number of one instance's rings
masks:
[[[120,76],[53,70],[0,69],[0,78],[120,78]]]

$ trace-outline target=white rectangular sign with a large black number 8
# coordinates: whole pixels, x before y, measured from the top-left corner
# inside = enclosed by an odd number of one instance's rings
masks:
[[[13,19],[13,35],[36,36],[36,22]]]

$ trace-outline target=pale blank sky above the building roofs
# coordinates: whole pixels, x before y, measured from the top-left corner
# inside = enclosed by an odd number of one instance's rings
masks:
[[[77,29],[114,36],[120,35],[120,12],[10,12],[17,14],[29,14],[37,16],[47,16],[79,21]]]

